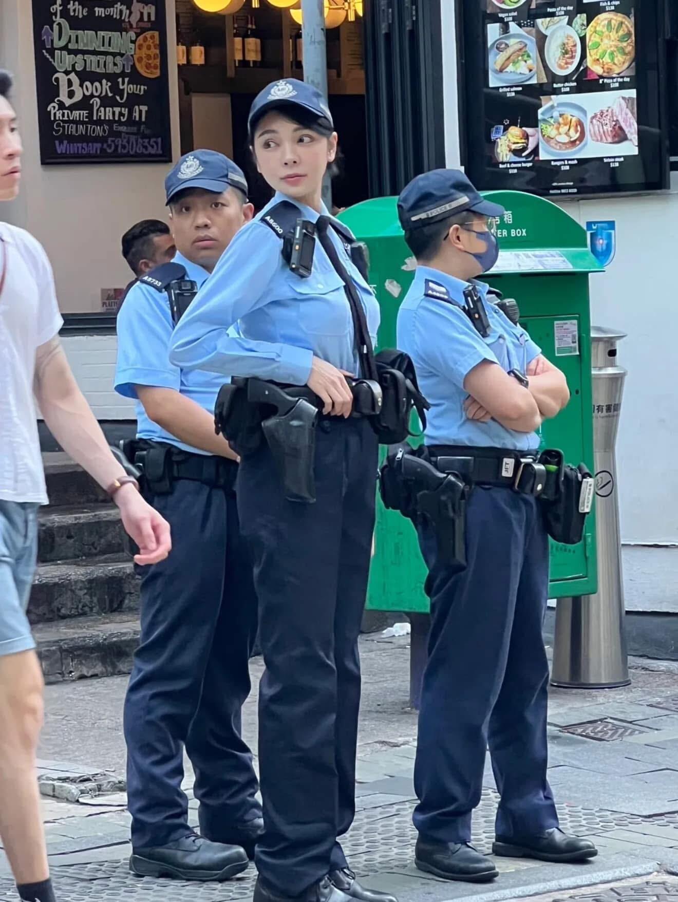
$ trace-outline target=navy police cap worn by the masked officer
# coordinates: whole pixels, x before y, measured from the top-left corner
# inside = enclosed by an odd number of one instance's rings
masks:
[[[466,210],[479,216],[501,216],[504,207],[482,198],[461,170],[433,170],[417,175],[398,198],[398,216],[405,232],[431,226]]]

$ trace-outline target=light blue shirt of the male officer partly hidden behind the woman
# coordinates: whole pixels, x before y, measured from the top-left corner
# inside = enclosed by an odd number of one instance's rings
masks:
[[[198,288],[209,275],[202,266],[190,262],[180,253],[176,254],[173,262],[186,267],[187,278],[195,281]],[[142,282],[133,285],[117,318],[115,391],[136,402],[138,438],[168,442],[194,454],[207,454],[200,448],[184,445],[179,438],[149,419],[134,388],[135,385],[149,385],[174,389],[214,413],[216,395],[227,380],[215,373],[188,372],[170,364],[169,340],[173,330],[167,291],[156,291]]]

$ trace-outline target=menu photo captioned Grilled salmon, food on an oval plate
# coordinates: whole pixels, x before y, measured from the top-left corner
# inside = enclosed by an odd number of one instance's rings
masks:
[[[518,22],[493,23],[488,25],[487,32],[490,87],[545,82],[534,28]]]

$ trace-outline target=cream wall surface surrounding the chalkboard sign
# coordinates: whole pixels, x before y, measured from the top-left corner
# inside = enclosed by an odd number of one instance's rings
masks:
[[[174,0],[167,0],[172,143],[179,157]],[[31,0],[0,0],[0,65],[14,72],[24,144],[22,194],[0,215],[28,229],[50,255],[62,310],[100,310],[102,288],[131,279],[120,237],[139,219],[164,218],[167,164],[41,166]]]

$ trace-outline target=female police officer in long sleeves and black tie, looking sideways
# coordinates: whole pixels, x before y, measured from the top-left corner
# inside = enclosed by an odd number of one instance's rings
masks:
[[[389,897],[357,883],[336,840],[354,815],[357,640],[377,466],[377,437],[367,419],[352,416],[345,375],[358,373],[358,356],[337,266],[358,292],[372,341],[380,312],[344,242],[327,230],[321,190],[337,135],[325,99],[296,79],[279,81],[255,99],[249,128],[257,168],[275,197],[217,263],[176,328],[170,357],[186,368],[307,385],[324,405],[316,503],[286,499],[266,446],[243,457],[239,475],[266,663],[259,745],[265,833],[255,899],[384,902]],[[297,208],[295,221],[316,224],[307,278],[282,256],[284,200]]]

